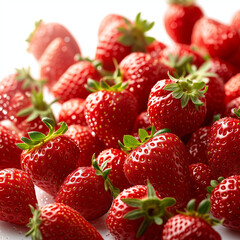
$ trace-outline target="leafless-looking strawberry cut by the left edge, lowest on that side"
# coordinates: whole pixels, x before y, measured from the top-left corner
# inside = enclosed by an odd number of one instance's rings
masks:
[[[0,220],[21,225],[31,217],[29,204],[37,204],[32,180],[15,168],[0,171],[0,199]]]

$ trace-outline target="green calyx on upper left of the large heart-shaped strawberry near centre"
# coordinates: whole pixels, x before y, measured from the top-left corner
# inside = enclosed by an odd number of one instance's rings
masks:
[[[167,133],[167,132],[170,132],[170,129],[164,128],[164,129],[161,129],[161,130],[155,132],[155,126],[152,125],[150,134],[148,134],[148,132],[145,129],[141,129],[141,128],[138,129],[138,137],[139,137],[140,141],[138,141],[132,135],[124,135],[123,136],[123,143],[118,141],[118,144],[121,147],[121,149],[125,153],[128,154],[130,151],[134,150],[138,146],[146,143],[149,139],[151,139],[153,137],[156,137],[156,136],[158,136],[162,133]]]

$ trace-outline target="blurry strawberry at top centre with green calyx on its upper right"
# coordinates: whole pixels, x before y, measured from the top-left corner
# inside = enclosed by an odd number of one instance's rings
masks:
[[[102,62],[103,69],[113,71],[115,59],[118,63],[131,52],[145,52],[148,44],[153,42],[152,37],[147,37],[146,32],[154,23],[141,19],[139,13],[134,23],[125,19],[120,26],[113,22],[99,36],[95,59]]]

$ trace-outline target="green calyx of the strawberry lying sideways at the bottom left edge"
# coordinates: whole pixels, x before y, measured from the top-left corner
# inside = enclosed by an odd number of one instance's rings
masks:
[[[30,218],[30,221],[27,225],[30,230],[25,234],[26,237],[31,236],[32,240],[42,240],[42,234],[39,230],[39,226],[41,225],[42,221],[40,220],[41,211],[39,210],[38,205],[36,206],[36,209],[34,209],[33,206],[29,205],[31,208],[31,212],[33,214],[33,217]]]

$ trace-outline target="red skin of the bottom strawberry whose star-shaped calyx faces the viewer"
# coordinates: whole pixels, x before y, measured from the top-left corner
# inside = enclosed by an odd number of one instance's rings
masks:
[[[147,196],[147,187],[143,185],[133,186],[131,188],[122,191],[117,198],[113,200],[113,204],[110,208],[106,219],[106,225],[110,233],[118,240],[157,240],[161,239],[163,226],[152,223],[147,231],[139,238],[136,237],[138,228],[143,221],[143,218],[128,220],[123,216],[128,212],[134,210],[133,207],[128,206],[121,201],[124,198],[136,198],[143,199]],[[157,196],[161,199],[161,196],[157,193]]]

